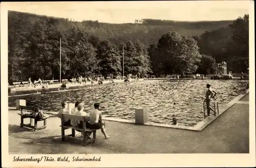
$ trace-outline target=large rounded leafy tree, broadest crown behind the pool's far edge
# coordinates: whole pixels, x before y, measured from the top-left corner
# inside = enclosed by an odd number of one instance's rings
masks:
[[[162,35],[158,41],[157,51],[165,74],[193,73],[198,68],[201,58],[196,40],[177,32]]]

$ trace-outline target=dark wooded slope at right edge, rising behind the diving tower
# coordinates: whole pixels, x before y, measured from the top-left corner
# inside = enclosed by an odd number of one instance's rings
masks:
[[[239,73],[249,67],[249,15],[194,38],[200,53],[214,57],[217,63],[227,62],[228,70]]]

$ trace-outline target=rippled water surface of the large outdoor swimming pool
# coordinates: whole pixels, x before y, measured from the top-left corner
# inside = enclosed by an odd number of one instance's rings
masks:
[[[248,81],[240,80],[167,80],[145,81],[131,84],[100,85],[81,90],[49,92],[9,98],[9,106],[16,99],[24,99],[28,106],[38,105],[49,111],[61,108],[62,101],[83,101],[85,111],[93,109],[96,102],[107,117],[135,118],[135,108],[148,108],[149,122],[171,124],[172,117],[180,125],[193,126],[203,120],[203,100],[206,84],[216,90],[219,106],[230,102],[245,88]]]

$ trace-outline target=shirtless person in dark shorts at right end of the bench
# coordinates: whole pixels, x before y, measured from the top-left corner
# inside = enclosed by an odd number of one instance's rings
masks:
[[[99,103],[94,104],[94,110],[90,112],[90,125],[91,129],[101,129],[101,132],[105,136],[105,139],[110,138],[110,136],[106,135],[106,130],[104,128],[104,122],[102,121],[102,113],[99,111]]]

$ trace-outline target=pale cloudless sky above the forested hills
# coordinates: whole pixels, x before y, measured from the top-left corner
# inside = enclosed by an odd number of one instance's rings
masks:
[[[234,20],[249,13],[251,1],[33,2],[9,3],[8,10],[70,18],[129,23],[151,18],[177,21]]]

